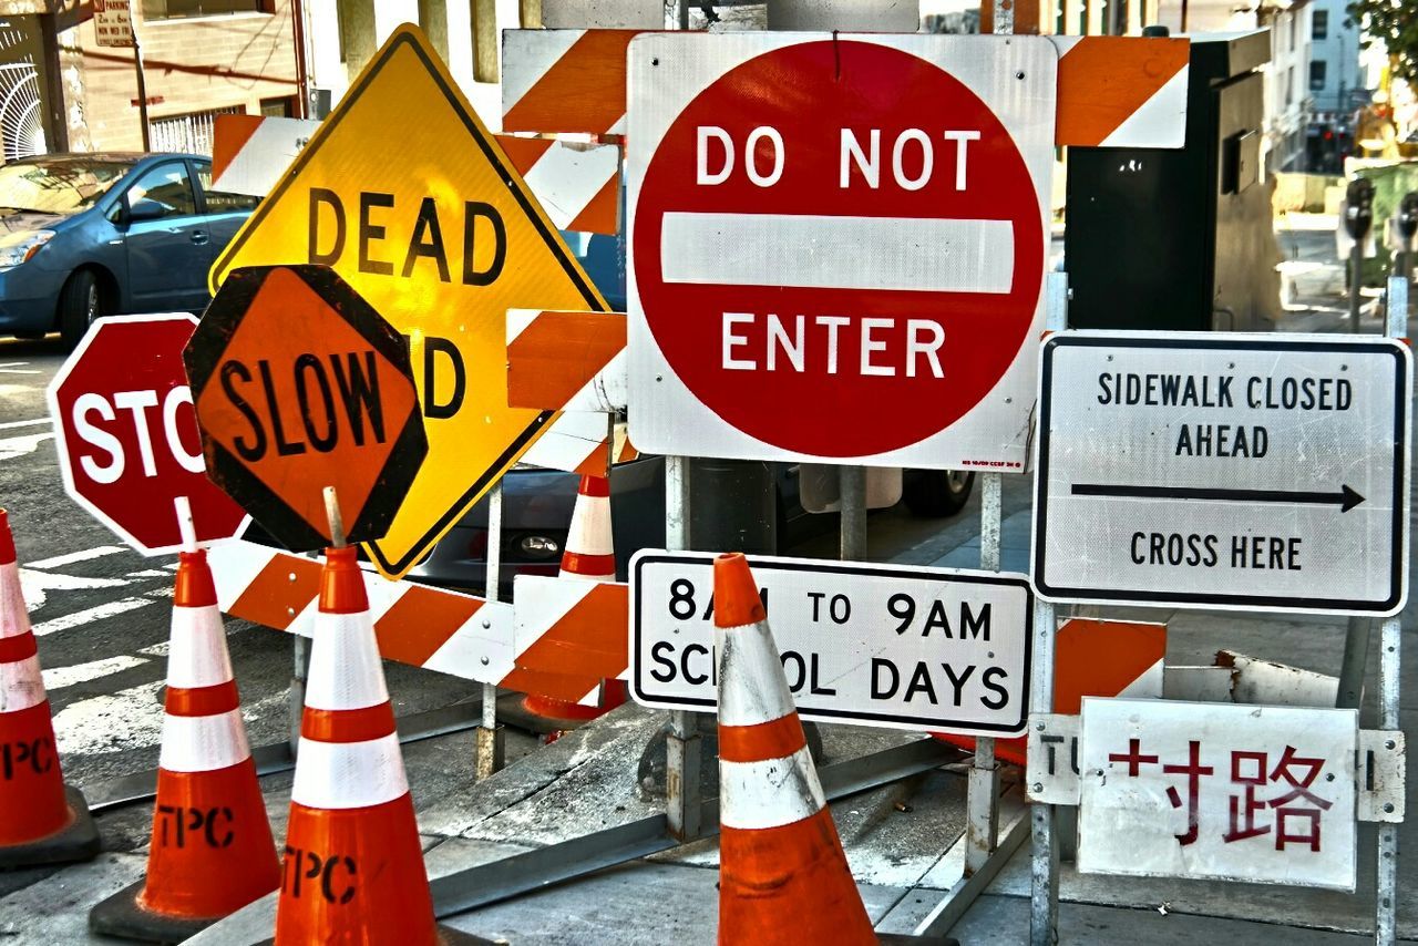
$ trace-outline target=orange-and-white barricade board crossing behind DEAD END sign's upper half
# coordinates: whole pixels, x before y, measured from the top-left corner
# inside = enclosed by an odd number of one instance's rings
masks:
[[[213,190],[265,197],[320,123],[298,118],[218,115]],[[512,166],[559,230],[614,235],[620,226],[620,146],[496,135]]]

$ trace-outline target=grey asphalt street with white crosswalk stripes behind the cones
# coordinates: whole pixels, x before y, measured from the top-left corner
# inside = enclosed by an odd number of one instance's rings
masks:
[[[0,340],[0,506],[10,512],[65,774],[91,789],[157,763],[176,559],[133,552],[64,492],[45,387],[65,356],[57,338]],[[1017,479],[1005,513],[1027,505]],[[968,513],[930,521],[882,511],[872,516],[869,557],[927,563],[976,523]],[[835,532],[787,552],[835,557]],[[279,742],[291,640],[240,620],[227,628],[252,745]],[[386,664],[386,675],[401,716],[478,698],[475,684],[430,671]]]

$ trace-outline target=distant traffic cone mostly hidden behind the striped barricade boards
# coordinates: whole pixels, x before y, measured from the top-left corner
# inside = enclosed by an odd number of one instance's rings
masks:
[[[615,580],[615,546],[611,536],[611,481],[605,477],[581,477],[576,491],[576,508],[571,511],[571,528],[566,536],[566,550],[562,553],[563,579],[583,581]],[[594,706],[574,703],[542,694],[527,694],[522,708],[533,716],[562,722],[584,722],[615,709],[625,702],[625,682],[620,679],[601,681],[601,698]],[[553,730],[550,740],[560,732]]]

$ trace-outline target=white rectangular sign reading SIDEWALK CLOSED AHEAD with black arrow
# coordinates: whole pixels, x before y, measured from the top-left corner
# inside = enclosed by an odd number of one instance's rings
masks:
[[[1041,597],[1402,610],[1404,345],[1066,332],[1045,343],[1039,384]]]

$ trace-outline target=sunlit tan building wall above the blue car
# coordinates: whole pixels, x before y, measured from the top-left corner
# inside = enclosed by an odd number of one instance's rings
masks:
[[[135,3],[135,6],[138,6]],[[298,94],[291,0],[277,0],[274,14],[234,14],[142,24],[149,119],[240,106],[259,112],[261,99]],[[132,50],[98,47],[94,24],[61,37],[77,47],[82,65],[82,98],[67,102],[82,111],[94,150],[140,150],[138,79]]]

